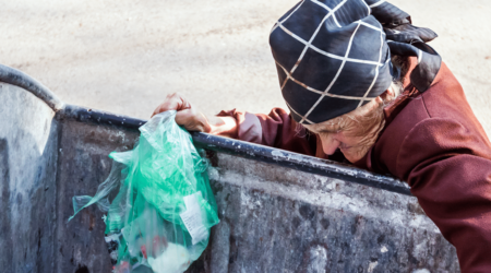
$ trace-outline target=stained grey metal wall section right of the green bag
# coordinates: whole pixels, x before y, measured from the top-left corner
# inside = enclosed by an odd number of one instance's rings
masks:
[[[192,272],[459,272],[414,197],[226,154],[216,166],[220,224]]]

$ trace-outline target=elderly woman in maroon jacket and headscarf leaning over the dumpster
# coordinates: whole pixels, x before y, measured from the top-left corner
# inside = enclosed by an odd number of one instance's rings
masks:
[[[289,112],[205,117],[173,94],[154,115],[178,110],[188,130],[323,158],[340,151],[392,174],[456,247],[462,272],[491,272],[491,143],[426,44],[435,37],[384,0],[303,0],[270,36]]]

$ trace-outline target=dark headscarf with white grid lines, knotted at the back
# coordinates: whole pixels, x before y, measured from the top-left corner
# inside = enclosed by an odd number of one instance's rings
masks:
[[[319,123],[384,93],[397,70],[391,52],[417,56],[411,83],[424,92],[441,58],[436,37],[385,0],[302,0],[274,25],[270,45],[292,118]]]

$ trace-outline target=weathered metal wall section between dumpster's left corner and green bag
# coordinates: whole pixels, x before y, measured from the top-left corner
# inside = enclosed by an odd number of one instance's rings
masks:
[[[94,194],[106,179],[111,168],[108,154],[131,149],[137,135],[110,126],[63,120],[58,155],[56,272],[111,271],[104,240],[106,225],[97,206],[67,221],[73,215],[72,198]]]

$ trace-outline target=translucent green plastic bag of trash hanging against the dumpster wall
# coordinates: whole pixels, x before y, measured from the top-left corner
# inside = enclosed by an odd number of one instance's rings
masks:
[[[112,169],[96,194],[73,198],[74,214],[91,204],[107,212],[113,272],[183,272],[218,224],[207,164],[175,117],[176,111],[154,116],[140,128],[132,151],[109,155]]]

